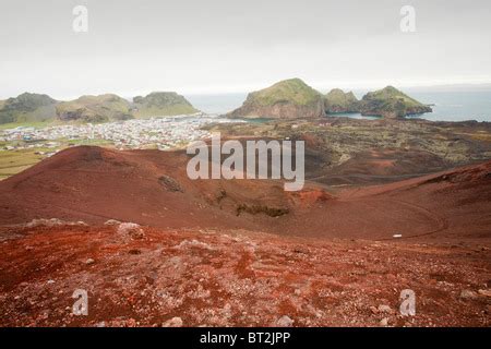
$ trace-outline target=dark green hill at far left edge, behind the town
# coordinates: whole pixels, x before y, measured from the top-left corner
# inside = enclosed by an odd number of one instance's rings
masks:
[[[46,121],[55,118],[57,101],[47,95],[24,93],[0,101],[0,124]]]

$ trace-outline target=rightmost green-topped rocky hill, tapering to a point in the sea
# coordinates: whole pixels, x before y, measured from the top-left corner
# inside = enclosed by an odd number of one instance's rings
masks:
[[[408,115],[432,111],[429,106],[417,101],[393,86],[364,95],[360,103],[360,110],[363,116],[384,118],[403,118]]]

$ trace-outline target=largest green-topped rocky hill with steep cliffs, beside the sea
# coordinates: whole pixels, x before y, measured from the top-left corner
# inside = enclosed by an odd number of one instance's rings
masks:
[[[324,115],[322,95],[300,79],[280,81],[250,93],[231,118],[318,118]]]

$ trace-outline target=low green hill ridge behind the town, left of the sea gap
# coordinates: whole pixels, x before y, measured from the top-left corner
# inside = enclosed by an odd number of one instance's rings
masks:
[[[146,97],[134,97],[133,103],[115,94],[86,95],[59,101],[48,95],[24,93],[0,100],[0,124],[38,121],[98,123],[197,111],[175,92],[154,92]]]

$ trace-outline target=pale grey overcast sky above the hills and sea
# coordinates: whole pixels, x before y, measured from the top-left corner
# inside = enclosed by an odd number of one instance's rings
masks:
[[[491,82],[489,0],[0,0],[0,99]],[[72,29],[75,5],[88,32]],[[402,33],[400,8],[416,9]]]

